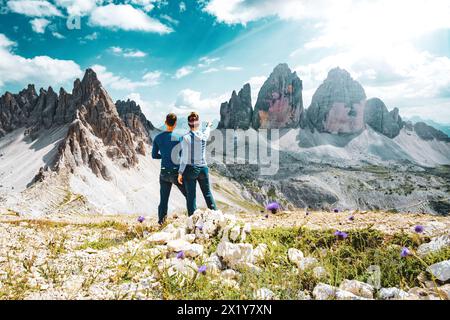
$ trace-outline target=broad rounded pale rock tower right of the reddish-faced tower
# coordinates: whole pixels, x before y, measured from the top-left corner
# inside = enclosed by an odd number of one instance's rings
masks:
[[[366,93],[349,72],[332,69],[314,93],[308,108],[312,128],[327,133],[358,133],[364,129]]]

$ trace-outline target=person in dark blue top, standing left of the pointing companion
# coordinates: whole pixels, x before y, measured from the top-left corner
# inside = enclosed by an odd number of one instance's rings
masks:
[[[179,143],[181,137],[173,132],[177,125],[177,116],[169,113],[166,117],[166,131],[156,136],[153,141],[152,158],[161,159],[161,173],[159,175],[160,203],[158,207],[158,223],[162,225],[167,216],[167,204],[169,202],[172,185],[176,185],[186,197],[186,189],[178,183],[179,170]]]

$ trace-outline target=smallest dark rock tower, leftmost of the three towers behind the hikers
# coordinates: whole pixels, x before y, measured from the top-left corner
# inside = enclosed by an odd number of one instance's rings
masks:
[[[250,84],[245,84],[239,93],[233,90],[228,102],[220,106],[219,129],[243,129],[251,127],[253,116]]]

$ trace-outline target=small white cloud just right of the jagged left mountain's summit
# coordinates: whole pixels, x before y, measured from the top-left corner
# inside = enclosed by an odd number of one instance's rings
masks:
[[[99,80],[107,89],[118,91],[133,91],[138,88],[150,88],[157,86],[160,82],[161,72],[147,72],[141,80],[133,81],[126,77],[115,75],[107,70],[105,66],[93,65],[91,67],[98,75]]]

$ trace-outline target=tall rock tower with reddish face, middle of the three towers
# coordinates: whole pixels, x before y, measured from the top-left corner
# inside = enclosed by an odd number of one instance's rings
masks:
[[[255,129],[296,128],[303,115],[303,83],[286,63],[275,67],[258,94]]]

